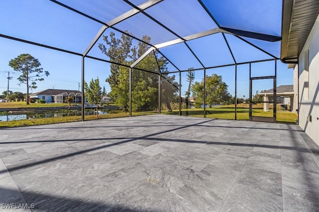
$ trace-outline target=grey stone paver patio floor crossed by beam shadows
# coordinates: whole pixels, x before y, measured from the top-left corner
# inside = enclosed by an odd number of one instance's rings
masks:
[[[296,125],[152,115],[1,129],[0,137],[0,204],[77,212],[319,208],[319,147]]]

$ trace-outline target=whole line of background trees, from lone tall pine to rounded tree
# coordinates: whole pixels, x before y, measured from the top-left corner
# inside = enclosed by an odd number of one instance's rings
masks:
[[[126,33],[129,34],[129,32]],[[103,35],[103,43],[99,43],[98,47],[111,62],[130,66],[150,48],[146,43],[151,43],[151,37],[144,35],[142,41],[133,45],[132,37],[122,34],[120,38],[116,38],[115,33],[111,31],[109,35]],[[134,111],[158,109],[159,80],[161,103],[165,104],[169,111],[172,111],[171,103],[178,103],[179,84],[175,81],[175,75],[169,75],[167,64],[167,59],[156,51],[150,53],[136,66],[136,68],[149,70],[150,72],[138,69],[132,70],[132,109]],[[37,88],[36,82],[43,81],[42,76],[49,75],[49,72],[43,71],[40,65],[40,62],[29,54],[21,54],[9,62],[9,66],[14,71],[21,73],[18,80],[20,84],[26,85],[27,104],[29,103],[29,89]],[[159,74],[161,75],[160,79]],[[228,93],[228,86],[219,75],[206,76],[205,94],[204,79],[201,82],[194,82],[195,72],[193,68],[188,69],[186,76],[188,82],[184,99],[186,107],[190,106],[190,97],[193,97],[195,107],[203,105],[204,96],[206,96],[206,103],[209,106],[216,103],[225,103],[232,98]],[[129,68],[111,64],[110,75],[105,82],[111,88],[108,94],[106,94],[105,88],[102,92],[98,78],[92,79],[89,85],[85,82],[85,97],[88,102],[98,105],[101,97],[108,95],[117,106],[123,111],[127,111],[129,109]]]

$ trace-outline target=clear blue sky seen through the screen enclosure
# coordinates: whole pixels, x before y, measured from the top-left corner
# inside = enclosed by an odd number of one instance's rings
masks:
[[[143,0],[132,0],[133,3],[141,3]],[[91,42],[95,34],[101,28],[101,24],[93,20],[85,18],[75,12],[72,12],[66,8],[63,8],[51,1],[45,0],[1,0],[0,1],[0,33],[26,39],[46,45],[55,46],[58,48],[67,49],[82,53],[88,44]],[[132,7],[126,4],[124,1],[104,1],[95,0],[94,3],[86,0],[61,0],[70,6],[74,6],[80,11],[87,11],[89,15],[99,18],[103,21],[109,21],[121,13],[128,11]],[[183,2],[183,3],[182,3]],[[258,15],[258,13],[252,13],[254,10],[259,11],[260,5],[256,4],[253,0],[244,0],[241,2],[241,9],[245,8],[245,12],[236,9],[235,7],[228,7],[228,11],[231,12],[231,16],[222,16],[222,11],[225,11],[227,5],[233,5],[234,0],[214,1],[215,7],[211,6],[209,0],[203,0],[212,12],[214,12],[215,18],[220,21],[220,24],[226,27],[242,27],[246,30],[255,29],[256,32],[269,33],[272,35],[280,36],[280,22],[281,7],[278,11],[278,2],[276,0],[261,0],[259,3],[265,7],[265,2],[268,2],[270,6],[269,14]],[[223,2],[223,3],[221,3]],[[277,4],[276,4],[277,2]],[[177,7],[175,5],[180,5]],[[247,10],[250,5],[250,10]],[[218,10],[216,9],[218,8]],[[187,12],[196,10],[196,12]],[[215,11],[216,10],[216,11]],[[198,4],[197,0],[164,0],[163,2],[146,10],[150,15],[158,18],[160,22],[166,24],[169,28],[182,36],[205,31],[211,28],[215,28],[216,24],[211,21],[210,17],[203,11]],[[163,16],[163,11],[168,11]],[[175,13],[169,12],[175,11]],[[183,12],[186,11],[186,12]],[[255,19],[252,18],[254,17]],[[264,15],[268,15],[265,18]],[[269,16],[270,15],[270,16]],[[248,17],[249,24],[248,24]],[[270,18],[269,18],[270,17]],[[278,21],[279,18],[279,21]],[[187,24],[179,24],[180,20],[186,20]],[[237,20],[234,22],[234,20]],[[246,21],[246,24],[245,24]],[[133,25],[133,23],[139,23]],[[263,27],[257,23],[263,23]],[[236,25],[237,24],[237,25]],[[245,28],[249,27],[255,28]],[[127,19],[125,22],[121,22],[115,27],[122,30],[128,30],[139,38],[147,34],[152,37],[152,44],[158,44],[171,39],[175,39],[176,36],[168,31],[165,31],[160,25],[147,19],[146,16],[138,14],[132,18]],[[110,30],[107,30],[105,34],[108,34]],[[278,34],[279,33],[279,34]],[[117,33],[117,36],[120,36]],[[247,43],[239,40],[238,38],[226,34],[226,38],[229,44],[233,47],[233,53],[237,62],[246,62],[257,59],[269,59],[269,55],[256,50]],[[245,38],[255,45],[269,51],[271,54],[279,56],[280,42],[270,43],[266,41],[254,40],[251,38]],[[100,41],[101,42],[101,39]],[[134,40],[134,45],[137,41]],[[227,51],[227,46],[222,38],[221,34],[215,34],[206,36],[197,40],[188,41],[187,44],[193,49],[195,54],[200,58],[201,62],[205,66],[223,65],[233,63],[232,57]],[[41,67],[45,71],[49,71],[50,75],[44,77],[43,82],[38,82],[37,89],[33,89],[34,92],[42,91],[45,89],[67,89],[78,90],[78,83],[81,82],[81,57],[71,55],[55,50],[50,50],[38,46],[33,46],[18,41],[13,41],[5,38],[0,38],[0,93],[6,91],[7,87],[7,71],[10,71],[12,80],[9,82],[9,90],[26,92],[24,85],[18,86],[17,77],[19,74],[14,73],[8,63],[11,59],[17,57],[22,53],[29,53],[33,57],[37,58]],[[186,46],[181,43],[174,46],[169,46],[160,49],[160,51],[167,56],[176,66],[185,70],[190,67],[200,68],[200,64],[192,56],[191,52],[185,48]],[[89,55],[108,59],[101,51],[94,46]],[[253,72],[257,75],[269,75],[273,70],[273,65],[260,64],[252,65]],[[168,66],[170,71],[175,71],[172,66]],[[234,66],[210,69],[207,70],[207,74],[211,75],[217,73],[222,75],[223,80],[229,86],[229,92],[234,96]],[[237,95],[238,97],[249,95],[249,75],[248,65],[238,66],[238,81],[237,81]],[[110,74],[110,64],[92,59],[85,59],[85,80],[90,81],[92,78],[99,77],[101,86],[105,86],[107,92],[110,91],[109,85],[105,82],[105,79]],[[178,82],[178,74],[176,75],[176,81]],[[277,70],[277,85],[292,85],[293,74],[291,70],[287,69],[286,64],[278,62]],[[203,78],[203,71],[195,72],[195,80],[201,81]],[[185,74],[182,74],[182,95],[187,89],[187,82]],[[269,83],[259,83],[256,85],[256,90],[270,89]],[[254,86],[255,88],[255,86]],[[81,89],[81,88],[80,88]]]

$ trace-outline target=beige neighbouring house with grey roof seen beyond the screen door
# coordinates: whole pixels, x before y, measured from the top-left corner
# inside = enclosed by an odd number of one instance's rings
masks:
[[[259,95],[264,96],[265,102],[272,102],[274,99],[273,89],[267,91],[262,91]],[[276,89],[277,104],[289,105],[290,111],[296,111],[297,107],[294,106],[294,86],[293,85],[284,85],[278,86]],[[264,103],[264,111],[269,110],[269,103]]]

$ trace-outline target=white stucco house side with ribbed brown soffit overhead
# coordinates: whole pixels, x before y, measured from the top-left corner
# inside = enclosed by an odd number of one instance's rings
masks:
[[[283,11],[281,60],[294,68],[298,124],[319,145],[318,0],[287,1]]]

